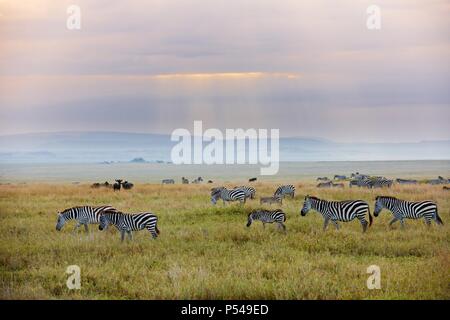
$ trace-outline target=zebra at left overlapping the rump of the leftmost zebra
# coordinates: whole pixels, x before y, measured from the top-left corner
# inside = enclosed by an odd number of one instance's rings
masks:
[[[135,214],[123,213],[120,211],[105,211],[100,216],[99,230],[106,230],[109,224],[113,224],[120,231],[120,240],[125,239],[125,233],[130,240],[133,240],[132,231],[147,229],[153,239],[160,234],[158,229],[158,217],[150,212],[141,212]]]

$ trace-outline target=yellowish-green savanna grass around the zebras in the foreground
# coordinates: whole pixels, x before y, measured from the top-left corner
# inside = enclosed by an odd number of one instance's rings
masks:
[[[297,186],[285,200],[287,234],[274,225],[246,228],[252,200],[212,206],[211,185],[145,185],[112,192],[87,185],[0,186],[1,299],[449,299],[450,198],[442,186],[394,186],[389,190]],[[257,183],[257,197],[274,183]],[[322,231],[322,217],[299,215],[303,196],[367,200],[376,195],[433,199],[443,227],[422,220],[389,230],[390,213],[375,218],[366,234],[359,222]],[[75,205],[110,204],[125,212],[151,211],[161,235],[143,230],[120,242],[115,229],[90,226],[55,230],[56,213]],[[270,206],[269,206],[270,207]],[[275,205],[272,208],[276,208]],[[81,268],[81,290],[66,287],[67,266]],[[369,290],[370,265],[381,268],[381,289]]]

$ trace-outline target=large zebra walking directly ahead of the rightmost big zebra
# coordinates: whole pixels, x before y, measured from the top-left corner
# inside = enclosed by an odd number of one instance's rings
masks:
[[[363,232],[366,232],[367,225],[369,225],[369,227],[372,225],[372,215],[370,214],[369,205],[362,200],[326,201],[316,197],[306,196],[300,214],[305,216],[311,209],[318,211],[323,216],[324,231],[330,220],[336,229],[339,229],[337,221],[348,222],[355,218],[358,218],[361,223]],[[369,223],[365,218],[366,212],[369,215]]]

